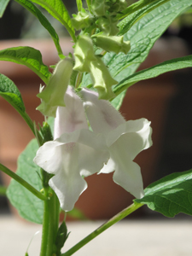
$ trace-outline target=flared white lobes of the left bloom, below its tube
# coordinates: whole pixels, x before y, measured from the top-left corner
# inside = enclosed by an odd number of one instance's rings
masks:
[[[55,190],[64,211],[71,211],[79,195],[87,188],[82,176],[99,172],[108,161],[104,143],[102,134],[81,129],[64,133],[38,149],[34,161],[46,172],[55,174],[49,185]]]

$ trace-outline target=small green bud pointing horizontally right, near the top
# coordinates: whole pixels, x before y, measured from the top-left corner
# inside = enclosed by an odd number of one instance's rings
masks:
[[[116,54],[119,52],[124,52],[125,55],[131,49],[130,41],[124,41],[124,37],[117,36],[105,36],[103,34],[96,34],[92,36],[96,46],[105,49],[107,51],[113,51]]]

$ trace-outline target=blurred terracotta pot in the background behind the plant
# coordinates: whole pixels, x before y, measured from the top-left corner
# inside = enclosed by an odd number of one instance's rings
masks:
[[[57,61],[55,46],[49,40],[2,42],[0,49],[17,45],[28,45],[40,49],[44,63],[47,65],[52,65]],[[61,45],[64,54],[72,51],[70,40],[61,40]],[[155,51],[153,51],[153,55],[155,58]],[[149,56],[148,60],[150,58],[152,57]],[[150,63],[147,63],[147,66],[151,66]],[[41,113],[35,110],[39,104],[36,95],[41,80],[27,67],[15,63],[0,62],[0,73],[4,73],[14,80],[26,104],[26,112],[37,123],[41,123],[44,118]],[[160,141],[163,136],[166,108],[174,93],[171,76],[166,75],[160,79],[151,79],[131,87],[127,91],[125,101],[120,108],[120,112],[125,116],[125,119],[144,117],[152,122],[154,146],[143,151],[135,160],[142,168],[145,187],[153,181],[155,163],[160,154]],[[16,113],[3,98],[0,98],[0,119],[0,159],[4,165],[15,171],[17,157],[32,139],[32,131],[20,118],[19,113]],[[119,185],[113,183],[112,175],[101,174],[86,178],[88,189],[80,196],[76,207],[84,212],[88,218],[110,218],[113,214],[131,204],[133,197]],[[7,178],[5,183],[9,183]]]

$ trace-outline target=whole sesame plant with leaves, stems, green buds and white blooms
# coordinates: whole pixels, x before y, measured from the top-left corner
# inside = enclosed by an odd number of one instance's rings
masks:
[[[172,173],[143,188],[141,169],[134,159],[152,146],[150,120],[126,121],[119,113],[126,90],[133,84],[192,67],[192,55],[187,55],[137,72],[155,41],[191,7],[192,0],[86,0],[84,4],[77,0],[78,12],[72,17],[61,0],[15,2],[49,32],[58,54],[50,73],[38,49],[0,50],[1,61],[25,65],[42,79],[37,95],[37,111],[44,115],[41,126],[26,113],[16,84],[0,74],[0,95],[36,137],[20,154],[16,173],[2,164],[0,170],[12,177],[6,194],[20,216],[43,226],[40,256],[73,255],[143,205],[166,217],[179,212],[192,215],[192,170]],[[8,3],[0,1],[1,16]],[[65,26],[73,53],[63,55],[60,38],[39,6]],[[61,210],[66,214],[73,210],[89,185],[84,177],[110,172],[114,183],[134,195],[133,203],[65,252],[70,236],[65,219],[59,222]]]

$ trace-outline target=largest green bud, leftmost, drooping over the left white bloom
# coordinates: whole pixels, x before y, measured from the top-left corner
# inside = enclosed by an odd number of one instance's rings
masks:
[[[65,58],[58,62],[49,83],[38,93],[42,103],[38,110],[47,116],[55,117],[58,106],[65,107],[64,96],[73,71],[73,59]]]

